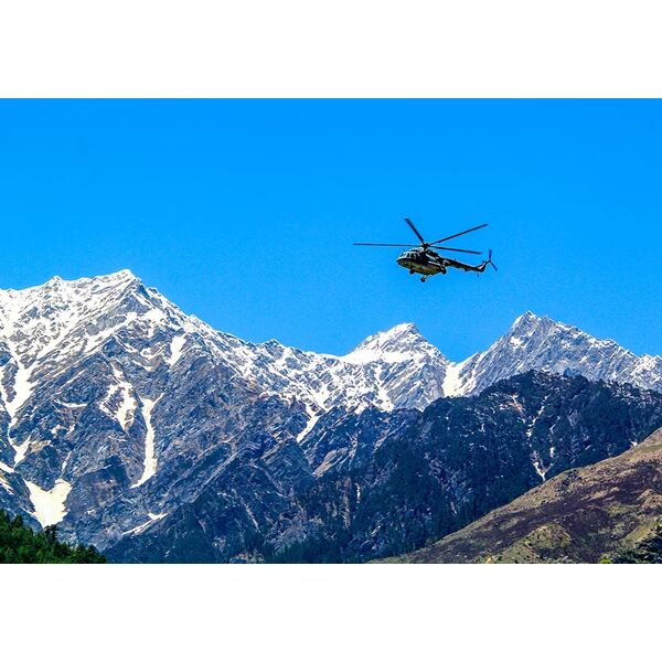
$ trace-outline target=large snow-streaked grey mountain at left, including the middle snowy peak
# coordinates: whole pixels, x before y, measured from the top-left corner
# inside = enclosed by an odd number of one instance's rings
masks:
[[[117,501],[121,535],[206,455],[296,442],[333,407],[424,408],[446,363],[410,324],[344,357],[247,343],[129,271],[0,291],[0,505],[45,526]]]

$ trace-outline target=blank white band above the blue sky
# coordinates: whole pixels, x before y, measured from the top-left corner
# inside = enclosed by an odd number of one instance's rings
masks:
[[[659,96],[642,0],[32,0],[2,96]]]

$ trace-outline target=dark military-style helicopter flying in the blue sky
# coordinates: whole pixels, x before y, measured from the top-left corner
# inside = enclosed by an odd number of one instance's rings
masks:
[[[470,232],[476,232],[477,229],[482,229],[487,227],[488,224],[483,223],[482,225],[477,225],[476,227],[471,227],[470,229],[465,229],[463,232],[459,232],[457,234],[450,235],[449,237],[444,237],[442,239],[437,239],[436,242],[426,242],[423,238],[423,235],[416,229],[416,226],[409,218],[405,218],[405,223],[412,228],[414,234],[420,241],[420,244],[354,244],[354,246],[380,246],[380,247],[398,247],[398,248],[407,248],[398,258],[397,264],[409,270],[410,275],[421,274],[420,282],[425,282],[431,276],[436,276],[437,274],[447,274],[449,268],[460,269],[462,271],[473,271],[476,274],[483,274],[484,270],[490,265],[495,271],[499,269],[496,265],[492,261],[492,250],[490,249],[488,254],[488,259],[482,261],[480,265],[467,265],[457,259],[452,259],[451,257],[446,257],[445,255],[439,255],[438,250],[442,252],[451,252],[451,253],[469,253],[471,255],[482,255],[479,250],[465,250],[462,248],[449,248],[448,246],[439,246],[439,244],[444,244],[446,242],[450,242],[450,239],[455,239],[456,237],[461,237],[462,235],[469,234]]]

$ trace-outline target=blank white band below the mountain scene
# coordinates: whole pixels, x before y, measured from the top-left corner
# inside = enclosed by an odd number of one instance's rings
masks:
[[[642,660],[653,566],[108,566],[0,572],[3,659]]]

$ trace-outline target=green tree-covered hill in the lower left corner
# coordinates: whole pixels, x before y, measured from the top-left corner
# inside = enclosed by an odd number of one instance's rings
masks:
[[[57,541],[54,527],[34,533],[18,516],[0,511],[0,563],[106,563],[94,547]]]

